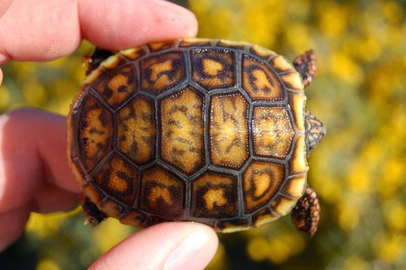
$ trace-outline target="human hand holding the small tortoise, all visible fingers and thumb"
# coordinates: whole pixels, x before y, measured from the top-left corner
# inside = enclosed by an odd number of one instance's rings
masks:
[[[192,13],[168,2],[93,3],[3,0],[0,64],[68,55],[82,38],[104,49],[119,50],[192,37],[197,30]],[[2,78],[0,71],[0,82]],[[80,190],[65,153],[65,117],[34,109],[0,115],[0,251],[21,235],[31,211],[50,213],[78,204]],[[217,245],[215,232],[206,225],[162,223],[131,235],[91,268],[204,268]]]

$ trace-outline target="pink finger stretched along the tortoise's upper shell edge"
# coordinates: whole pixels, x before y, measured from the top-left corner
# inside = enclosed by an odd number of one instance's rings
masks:
[[[197,31],[193,13],[163,0],[14,0],[0,25],[0,64],[55,59],[82,38],[119,50]]]

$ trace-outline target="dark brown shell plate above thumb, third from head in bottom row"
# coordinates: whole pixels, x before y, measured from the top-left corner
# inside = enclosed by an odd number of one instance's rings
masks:
[[[178,220],[184,211],[185,183],[160,166],[141,175],[140,208],[147,213]]]

